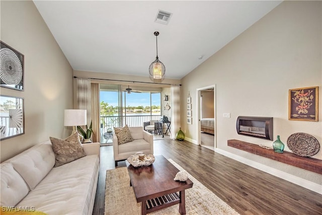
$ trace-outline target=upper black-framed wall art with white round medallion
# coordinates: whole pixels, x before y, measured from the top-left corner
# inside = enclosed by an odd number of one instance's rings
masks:
[[[0,42],[0,86],[24,90],[24,55]]]

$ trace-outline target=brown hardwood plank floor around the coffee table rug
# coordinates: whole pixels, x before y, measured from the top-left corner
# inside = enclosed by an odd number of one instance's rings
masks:
[[[322,195],[190,142],[155,140],[154,155],[173,159],[240,214],[322,214]],[[106,170],[114,168],[112,146],[101,147],[93,214],[104,214]]]

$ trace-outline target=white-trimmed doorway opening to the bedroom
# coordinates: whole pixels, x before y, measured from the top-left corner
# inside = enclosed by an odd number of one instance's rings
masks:
[[[198,88],[198,145],[215,151],[216,149],[216,114],[215,85]]]

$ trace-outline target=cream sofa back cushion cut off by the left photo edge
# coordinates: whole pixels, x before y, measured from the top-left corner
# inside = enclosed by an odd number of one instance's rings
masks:
[[[28,185],[12,164],[1,164],[1,205],[15,206],[29,192]]]

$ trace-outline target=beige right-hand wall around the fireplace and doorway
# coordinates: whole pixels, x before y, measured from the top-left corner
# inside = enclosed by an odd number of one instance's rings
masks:
[[[273,141],[237,134],[236,118],[245,115],[274,117],[274,138],[281,136],[285,151],[287,137],[295,132],[309,133],[322,143],[321,3],[283,2],[184,77],[181,89],[183,98],[190,91],[192,101],[197,101],[197,88],[216,85],[218,151],[316,184],[322,184],[318,174],[228,147],[227,140],[272,146]],[[288,90],[314,86],[319,87],[319,121],[288,120]],[[194,102],[192,109],[196,107]],[[196,122],[197,112],[192,113]],[[231,117],[223,118],[223,113]],[[188,125],[185,114],[181,111],[181,127],[196,140],[197,123]],[[313,157],[322,159],[322,150]]]

